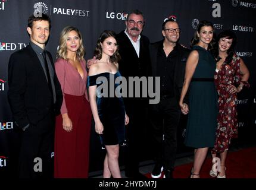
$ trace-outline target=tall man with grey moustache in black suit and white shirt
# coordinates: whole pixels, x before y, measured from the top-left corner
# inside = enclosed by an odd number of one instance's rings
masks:
[[[131,11],[126,18],[126,30],[117,34],[117,43],[121,61],[119,71],[123,77],[148,77],[151,75],[149,57],[149,39],[141,34],[145,20],[138,9]],[[129,81],[130,82],[130,81]],[[128,82],[128,83],[129,83]],[[129,86],[129,84],[127,85]],[[135,89],[135,88],[133,88]],[[133,90],[135,92],[135,90]],[[129,92],[127,92],[129,94]],[[139,162],[145,154],[148,135],[148,99],[127,97],[124,98],[127,115],[130,122],[127,125],[127,153],[126,176],[129,178],[143,178],[139,173]]]

